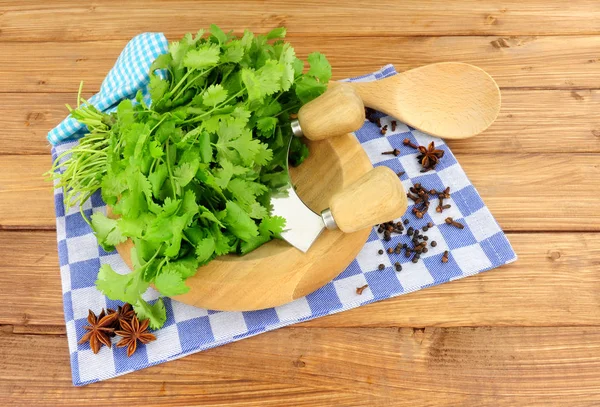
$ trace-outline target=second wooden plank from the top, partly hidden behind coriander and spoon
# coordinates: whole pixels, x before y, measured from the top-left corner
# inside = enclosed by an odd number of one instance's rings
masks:
[[[600,36],[395,37],[386,38],[384,45],[376,37],[289,40],[303,59],[315,50],[327,55],[334,79],[363,75],[386,64],[404,71],[462,61],[485,69],[501,87],[600,88]],[[0,53],[12,62],[0,66],[1,92],[73,93],[80,81],[87,92],[95,92],[126,43],[0,42]]]

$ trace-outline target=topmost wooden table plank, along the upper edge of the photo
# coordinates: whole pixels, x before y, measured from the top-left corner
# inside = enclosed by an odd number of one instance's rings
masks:
[[[44,4],[4,1],[4,41],[130,38],[144,31],[181,36],[211,23],[256,32],[286,26],[290,32],[331,35],[597,34],[600,9],[594,0],[461,2],[382,0],[351,5],[333,0],[289,2],[136,0]],[[226,12],[235,10],[234,13]]]

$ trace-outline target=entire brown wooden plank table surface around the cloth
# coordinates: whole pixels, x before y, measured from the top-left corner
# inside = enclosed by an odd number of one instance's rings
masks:
[[[75,388],[47,131],[127,41],[285,25],[334,79],[464,61],[502,88],[450,142],[518,262]],[[64,0],[0,3],[0,405],[600,403],[600,3]]]

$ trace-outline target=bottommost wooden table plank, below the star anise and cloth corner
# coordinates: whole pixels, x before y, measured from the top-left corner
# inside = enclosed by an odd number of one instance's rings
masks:
[[[78,389],[64,337],[0,339],[10,405],[600,403],[598,327],[287,328]]]

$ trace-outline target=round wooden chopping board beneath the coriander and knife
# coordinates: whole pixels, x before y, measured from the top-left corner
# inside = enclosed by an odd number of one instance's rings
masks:
[[[302,200],[320,213],[333,194],[370,171],[372,165],[352,134],[308,141],[308,146],[310,156],[292,169],[292,179]],[[188,293],[173,298],[221,311],[282,305],[335,278],[356,257],[369,233],[370,229],[350,234],[325,230],[307,253],[285,241],[273,240],[245,256],[217,257],[186,280]],[[129,267],[132,245],[127,241],[117,246]]]

